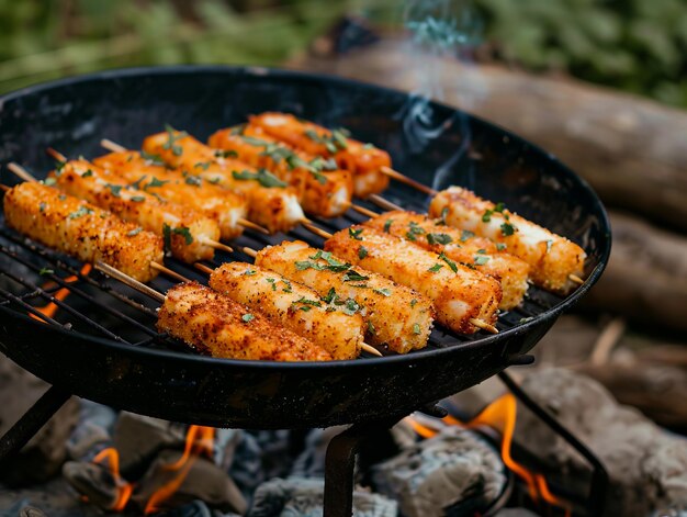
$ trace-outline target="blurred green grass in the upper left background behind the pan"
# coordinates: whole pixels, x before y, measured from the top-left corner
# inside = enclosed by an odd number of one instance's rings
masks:
[[[0,92],[122,66],[274,65],[346,8],[317,0],[0,0]]]

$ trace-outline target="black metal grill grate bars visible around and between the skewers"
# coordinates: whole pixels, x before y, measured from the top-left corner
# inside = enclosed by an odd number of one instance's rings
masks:
[[[406,210],[426,212],[427,199],[424,194],[404,186],[392,186],[384,198]],[[382,212],[379,206],[364,201],[357,201],[370,210]],[[318,226],[327,232],[336,232],[351,224],[365,221],[365,216],[349,210],[344,217],[331,220],[315,218]],[[266,236],[247,231],[236,244],[254,249],[267,245],[279,244],[284,239],[301,239],[315,247],[322,247],[323,239],[302,226],[290,234]],[[216,251],[210,267],[217,267],[226,261],[247,261],[252,259],[243,252],[227,254]],[[207,283],[207,277],[200,273],[191,265],[180,262],[171,257],[166,258],[166,266],[185,278]],[[72,331],[109,338],[132,347],[167,348],[181,353],[193,353],[183,344],[155,328],[156,308],[158,303],[131,288],[106,278],[93,270],[88,276],[79,272],[82,265],[76,260],[57,254],[42,245],[31,241],[9,229],[4,225],[4,216],[0,215],[0,305],[11,307],[18,313],[32,313],[50,325],[60,325]],[[45,273],[49,269],[53,272]],[[41,274],[41,272],[44,274]],[[75,282],[66,282],[67,277],[77,277]],[[48,284],[52,283],[53,285]],[[46,284],[48,284],[46,286]],[[166,292],[173,280],[159,276],[150,285]],[[67,288],[70,295],[65,301],[55,299],[59,289]],[[523,321],[536,317],[563,301],[563,297],[530,286],[525,302],[516,310],[502,313],[496,327],[503,331]],[[41,314],[37,308],[53,302],[59,308],[54,318]],[[36,322],[36,325],[42,323]],[[475,341],[489,336],[484,331],[470,336],[457,335],[436,326],[431,333],[427,349],[455,346],[460,342]],[[417,352],[410,352],[417,353]],[[361,359],[372,356],[363,353]]]

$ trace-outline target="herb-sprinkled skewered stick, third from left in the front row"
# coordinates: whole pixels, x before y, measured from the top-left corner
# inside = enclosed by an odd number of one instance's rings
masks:
[[[307,285],[329,305],[360,313],[367,324],[367,342],[386,344],[398,353],[427,346],[433,317],[431,302],[406,286],[352,268],[301,240],[261,249],[256,265]]]

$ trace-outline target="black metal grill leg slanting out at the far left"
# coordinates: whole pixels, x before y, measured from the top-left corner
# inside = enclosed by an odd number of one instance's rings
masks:
[[[71,393],[50,386],[0,438],[0,462],[18,453],[70,396]]]

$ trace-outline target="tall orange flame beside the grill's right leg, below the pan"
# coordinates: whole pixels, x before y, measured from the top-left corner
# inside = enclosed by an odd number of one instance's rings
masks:
[[[513,436],[515,432],[515,424],[517,418],[517,407],[518,404],[516,397],[511,393],[506,393],[505,395],[500,396],[492,404],[489,404],[482,413],[480,413],[469,423],[462,423],[450,415],[443,417],[442,422],[446,425],[450,426],[465,426],[469,428],[477,426],[489,426],[499,430],[502,434],[500,454],[504,463],[506,464],[506,467],[508,467],[508,469],[515,472],[516,475],[520,476],[525,481],[525,483],[527,483],[527,487],[532,501],[538,502],[540,499],[543,499],[551,505],[565,508],[565,515],[566,517],[570,517],[570,515],[572,514],[570,505],[562,502],[551,493],[544,476],[528,471],[525,467],[515,461],[513,459],[513,456],[510,454],[510,447],[513,445]],[[430,438],[438,432],[435,429],[419,424],[413,418],[409,418],[408,422],[413,426],[415,431],[424,438]]]

